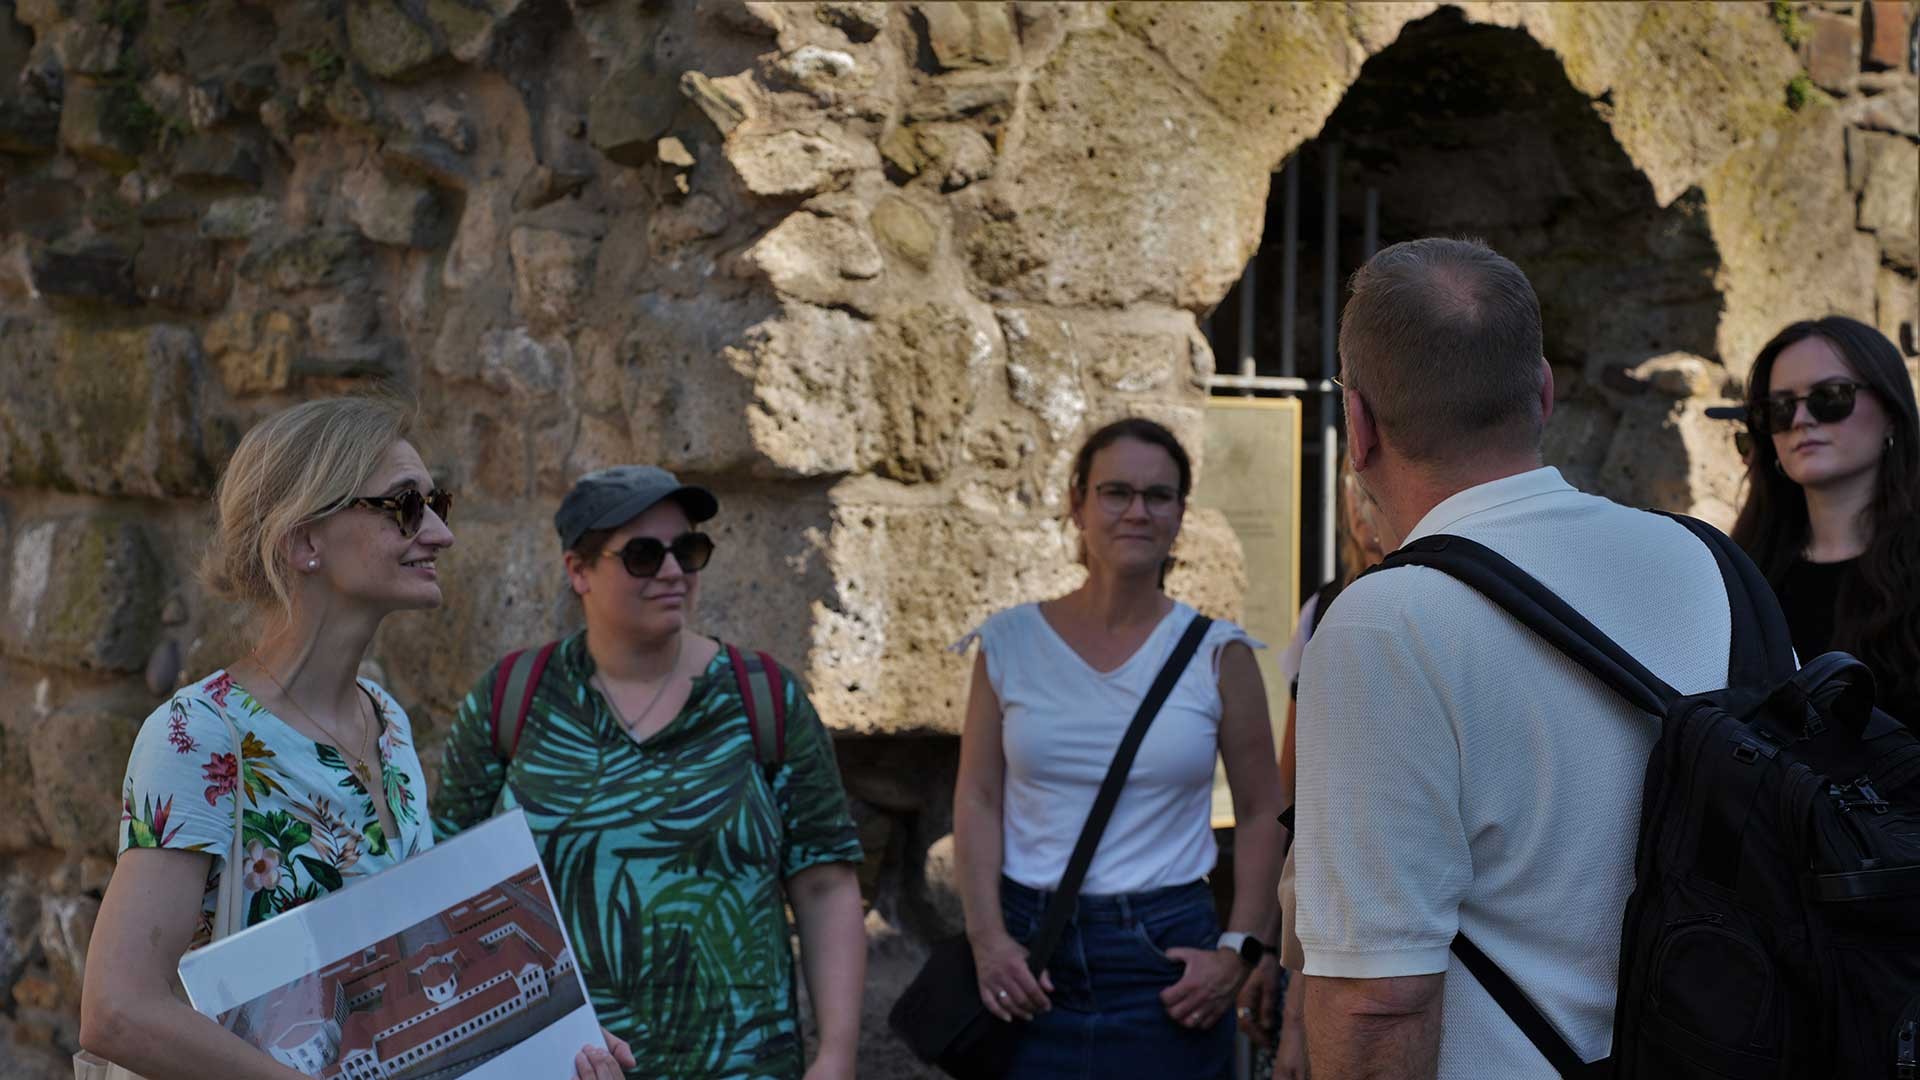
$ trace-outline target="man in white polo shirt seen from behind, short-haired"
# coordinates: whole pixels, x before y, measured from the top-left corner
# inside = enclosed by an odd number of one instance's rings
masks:
[[[1392,530],[1540,578],[1682,694],[1726,684],[1730,611],[1686,527],[1544,467],[1540,302],[1476,240],[1382,250],[1340,321],[1348,455]],[[1613,1043],[1620,911],[1657,721],[1427,567],[1356,580],[1306,650],[1298,936],[1315,1080],[1555,1070],[1465,934],[1582,1061]]]

